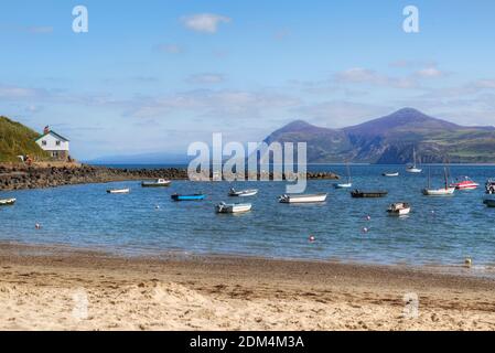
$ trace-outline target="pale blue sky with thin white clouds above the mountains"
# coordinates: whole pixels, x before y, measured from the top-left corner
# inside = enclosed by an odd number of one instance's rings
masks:
[[[88,33],[72,10],[88,9]],[[406,6],[420,32],[402,30]],[[294,119],[343,127],[405,106],[495,125],[495,2],[11,1],[0,114],[78,159],[258,141]]]

